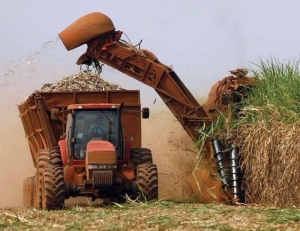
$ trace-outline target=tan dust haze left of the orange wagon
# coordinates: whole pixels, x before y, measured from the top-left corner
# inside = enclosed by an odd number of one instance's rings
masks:
[[[27,139],[17,106],[0,112],[0,208],[23,204],[23,180],[34,175]]]

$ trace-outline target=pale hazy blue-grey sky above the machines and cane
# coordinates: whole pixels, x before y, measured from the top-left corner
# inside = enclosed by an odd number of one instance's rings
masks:
[[[19,103],[44,83],[79,70],[76,61],[86,45],[67,51],[58,33],[90,12],[108,15],[133,44],[143,39],[142,48],[172,65],[192,94],[206,97],[229,70],[270,57],[298,59],[299,8],[297,0],[2,1],[1,102]],[[144,106],[158,98],[148,86],[109,67],[101,76],[140,89]]]

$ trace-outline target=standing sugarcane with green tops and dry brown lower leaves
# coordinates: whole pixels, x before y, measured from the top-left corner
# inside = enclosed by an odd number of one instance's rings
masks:
[[[254,67],[257,84],[242,100],[244,117],[228,131],[240,146],[246,201],[299,204],[299,61],[271,59]]]

